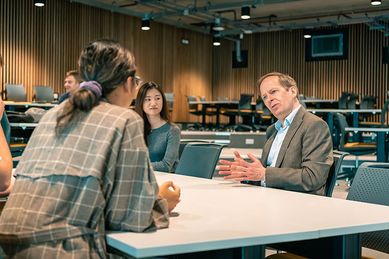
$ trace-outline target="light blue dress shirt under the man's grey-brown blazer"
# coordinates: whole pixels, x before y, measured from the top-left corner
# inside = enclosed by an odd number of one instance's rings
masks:
[[[297,111],[300,109],[301,104],[297,106],[296,109],[294,109],[286,118],[284,121],[284,125],[281,123],[280,120],[278,120],[274,126],[276,127],[277,135],[274,138],[273,143],[271,144],[271,148],[269,151],[269,156],[267,157],[267,166],[274,167],[276,165],[278,153],[280,152],[281,145],[283,144],[283,139],[286,136],[286,133],[288,132],[290,123],[292,123],[293,119],[296,116]],[[266,187],[266,176],[265,180],[261,181],[261,186]]]

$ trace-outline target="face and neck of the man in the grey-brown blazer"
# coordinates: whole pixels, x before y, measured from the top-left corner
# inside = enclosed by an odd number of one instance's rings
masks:
[[[266,107],[282,123],[293,109],[299,105],[296,102],[296,87],[292,86],[289,91],[286,91],[278,82],[278,76],[267,77],[262,81],[260,90]]]

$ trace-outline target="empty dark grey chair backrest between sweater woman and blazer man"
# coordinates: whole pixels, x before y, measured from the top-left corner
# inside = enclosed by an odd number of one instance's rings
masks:
[[[220,153],[226,146],[218,143],[187,143],[176,173],[212,179]]]

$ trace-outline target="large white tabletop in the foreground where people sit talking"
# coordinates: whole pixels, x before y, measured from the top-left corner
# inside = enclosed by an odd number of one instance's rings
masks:
[[[182,201],[169,228],[107,232],[107,244],[153,257],[389,229],[389,207],[156,172],[173,180]]]

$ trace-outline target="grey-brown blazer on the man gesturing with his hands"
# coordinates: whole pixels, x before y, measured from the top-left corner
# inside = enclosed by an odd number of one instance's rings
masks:
[[[332,139],[325,121],[300,107],[286,133],[275,167],[266,161],[277,130],[266,130],[261,163],[266,167],[266,187],[324,195],[328,172],[334,162]],[[251,182],[261,185],[261,182]]]

